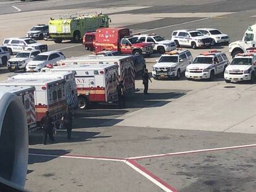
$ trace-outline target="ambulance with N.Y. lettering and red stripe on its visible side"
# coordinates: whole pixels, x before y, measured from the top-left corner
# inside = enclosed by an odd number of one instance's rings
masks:
[[[80,109],[88,109],[90,102],[117,101],[117,64],[66,65],[62,67],[54,67],[53,69],[48,69],[48,71],[75,71]]]

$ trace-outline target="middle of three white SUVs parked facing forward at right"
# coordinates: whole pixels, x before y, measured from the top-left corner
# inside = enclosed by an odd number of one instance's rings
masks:
[[[202,78],[213,80],[214,75],[223,73],[228,64],[226,54],[211,50],[195,57],[192,64],[187,66],[185,76],[188,80]]]

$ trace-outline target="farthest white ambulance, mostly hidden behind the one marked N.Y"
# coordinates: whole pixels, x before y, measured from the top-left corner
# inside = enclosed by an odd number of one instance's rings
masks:
[[[92,64],[118,64],[119,65],[119,80],[124,81],[124,88],[126,92],[135,91],[135,70],[132,56],[106,56],[106,57],[71,57],[56,62],[58,66],[61,65],[92,65]]]

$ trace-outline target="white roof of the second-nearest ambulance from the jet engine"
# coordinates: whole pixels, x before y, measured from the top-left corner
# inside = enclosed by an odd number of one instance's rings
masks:
[[[46,85],[48,83],[57,83],[64,81],[64,79],[52,79],[52,78],[47,78],[47,79],[14,79],[14,78],[9,78],[7,80],[1,81],[0,85]]]

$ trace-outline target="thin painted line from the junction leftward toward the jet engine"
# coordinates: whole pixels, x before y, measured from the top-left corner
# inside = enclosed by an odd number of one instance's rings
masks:
[[[125,159],[119,158],[111,158],[111,157],[94,157],[94,156],[77,156],[77,155],[51,155],[51,154],[37,154],[37,153],[29,153],[30,156],[41,156],[41,157],[62,157],[62,158],[70,158],[70,159],[94,159],[94,160],[102,160],[102,161],[118,161],[125,162]]]

